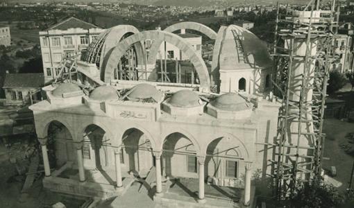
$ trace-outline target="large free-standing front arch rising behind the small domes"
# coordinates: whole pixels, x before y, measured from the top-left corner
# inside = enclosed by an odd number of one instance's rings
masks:
[[[201,58],[201,56],[196,53],[193,47],[182,37],[165,31],[143,31],[135,35],[131,35],[125,40],[119,42],[119,44],[115,46],[115,48],[111,49],[110,53],[107,54],[105,57],[105,64],[103,64],[103,67],[101,69],[101,71],[103,71],[101,75],[104,76],[102,76],[101,79],[105,83],[110,83],[112,73],[115,70],[115,67],[117,67],[117,64],[121,56],[124,54],[124,51],[126,51],[129,46],[135,44],[136,42],[152,39],[169,42],[177,46],[178,49],[182,50],[183,53],[185,53],[189,57],[189,60],[191,60],[192,64],[194,65],[194,68],[196,69],[196,72],[198,73],[200,81],[199,91],[209,92],[210,78],[208,68],[206,67],[205,62],[203,61],[203,58]]]

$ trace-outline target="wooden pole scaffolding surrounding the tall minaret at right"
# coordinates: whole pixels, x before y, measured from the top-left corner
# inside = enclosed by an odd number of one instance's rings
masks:
[[[282,105],[270,162],[278,200],[294,193],[297,180],[321,177],[323,112],[339,16],[334,9],[335,1],[331,10],[319,10],[319,0],[312,0],[303,11],[285,15],[277,5],[272,92]]]

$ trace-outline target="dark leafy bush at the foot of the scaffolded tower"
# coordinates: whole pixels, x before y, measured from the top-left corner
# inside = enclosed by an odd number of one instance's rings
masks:
[[[310,183],[297,182],[295,193],[289,198],[291,207],[335,208],[343,202],[344,196],[335,187],[315,179]]]

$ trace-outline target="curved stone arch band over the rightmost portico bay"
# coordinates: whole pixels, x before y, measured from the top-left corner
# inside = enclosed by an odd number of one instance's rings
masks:
[[[220,138],[222,138],[222,139],[229,138],[229,139],[233,140],[233,144],[239,145],[239,148],[237,148],[236,151],[237,151],[237,153],[239,153],[240,157],[244,158],[245,162],[248,162],[251,159],[250,155],[248,153],[248,150],[247,150],[246,146],[244,145],[244,142],[242,142],[239,138],[235,137],[235,135],[232,135],[230,133],[224,132],[224,133],[221,133],[221,134],[213,135],[212,138],[214,138],[214,139],[212,139],[211,141],[208,142],[208,144],[205,144],[205,146],[203,146],[203,149],[201,150],[201,152],[203,154],[206,155],[207,150],[208,150],[208,146],[210,144],[212,144],[213,141],[215,141],[217,139],[220,139]]]

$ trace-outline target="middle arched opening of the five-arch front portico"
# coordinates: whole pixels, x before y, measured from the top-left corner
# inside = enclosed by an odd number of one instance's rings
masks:
[[[146,177],[153,164],[151,141],[144,132],[130,128],[124,132],[122,139],[121,164],[124,171],[140,177]]]

